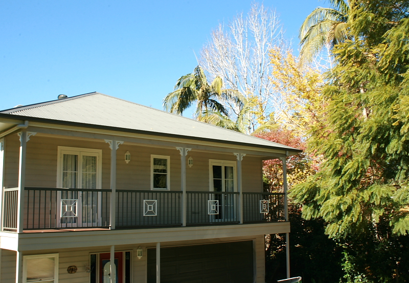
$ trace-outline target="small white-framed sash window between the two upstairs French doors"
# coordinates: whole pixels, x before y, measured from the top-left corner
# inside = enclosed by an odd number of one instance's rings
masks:
[[[170,157],[151,155],[151,182],[152,190],[170,189]]]

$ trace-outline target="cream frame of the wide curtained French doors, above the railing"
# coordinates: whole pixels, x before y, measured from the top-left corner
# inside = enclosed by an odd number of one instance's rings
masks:
[[[57,188],[62,188],[62,155],[74,154],[78,155],[78,162],[80,161],[80,156],[82,153],[97,154],[97,189],[101,188],[102,185],[102,149],[95,148],[81,148],[81,147],[70,147],[70,146],[58,146],[58,160],[57,160]],[[80,175],[80,164],[78,164],[78,175]],[[78,176],[78,182],[80,180]],[[78,188],[81,187],[79,182]]]

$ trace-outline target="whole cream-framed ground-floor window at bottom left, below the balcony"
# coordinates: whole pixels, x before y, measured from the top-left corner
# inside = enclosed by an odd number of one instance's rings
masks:
[[[24,283],[58,283],[58,253],[25,255],[22,266]]]

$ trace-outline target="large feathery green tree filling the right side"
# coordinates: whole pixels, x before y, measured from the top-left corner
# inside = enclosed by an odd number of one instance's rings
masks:
[[[323,90],[326,125],[309,150],[324,157],[291,192],[306,219],[323,217],[331,237],[376,230],[409,232],[409,1],[356,0],[352,39],[334,47]]]

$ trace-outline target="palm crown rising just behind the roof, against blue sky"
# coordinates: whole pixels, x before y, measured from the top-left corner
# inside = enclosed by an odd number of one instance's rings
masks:
[[[220,101],[240,103],[242,95],[239,91],[222,89],[223,81],[217,76],[210,84],[205,72],[197,66],[193,73],[180,77],[174,87],[163,100],[166,111],[183,114],[193,103],[197,102],[195,116],[202,116],[210,111],[228,116],[228,110]],[[205,115],[206,116],[206,115]],[[204,119],[206,122],[207,119]]]

